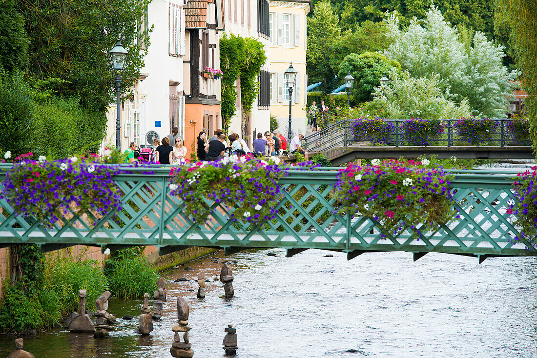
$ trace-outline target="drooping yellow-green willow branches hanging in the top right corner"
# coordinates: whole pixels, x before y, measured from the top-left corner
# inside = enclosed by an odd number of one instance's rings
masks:
[[[521,83],[528,93],[527,109],[533,149],[537,153],[537,3],[534,0],[498,0],[496,19],[508,24],[510,43],[521,71]]]

